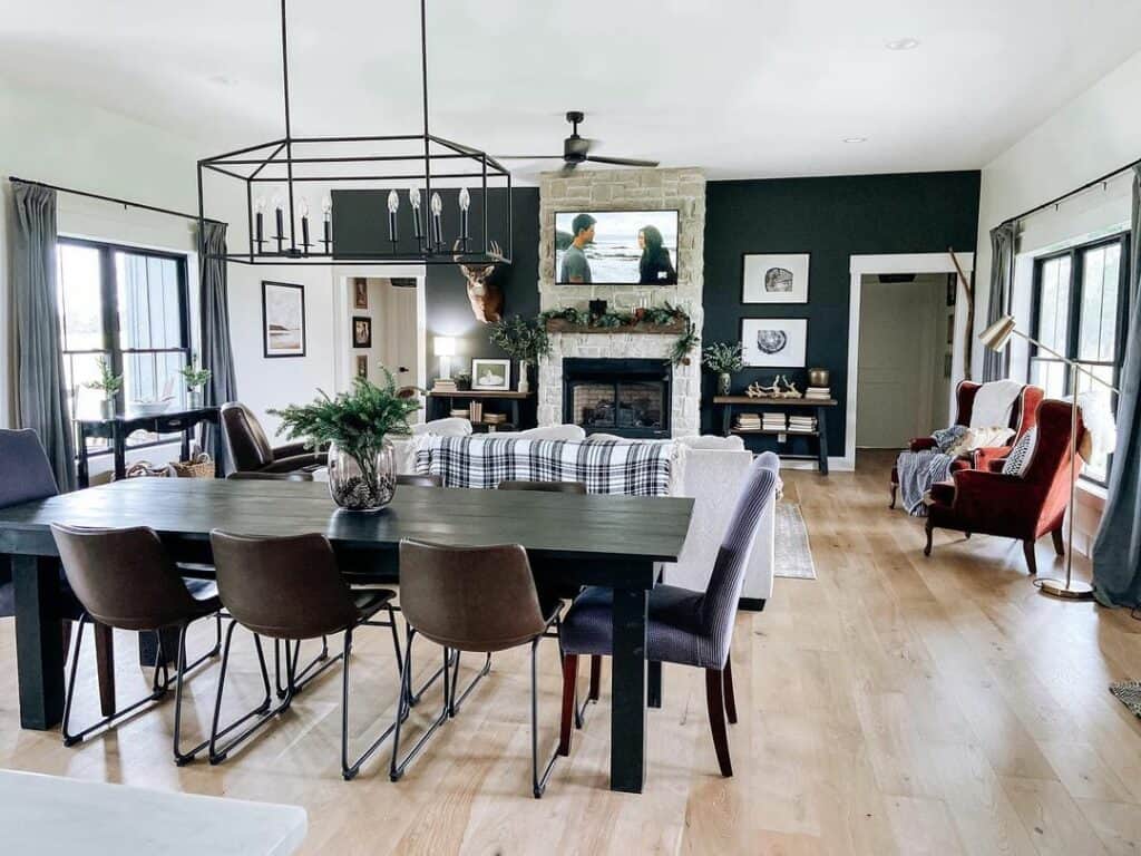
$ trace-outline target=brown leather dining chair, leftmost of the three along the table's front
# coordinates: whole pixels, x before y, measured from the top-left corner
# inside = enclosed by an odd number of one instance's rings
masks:
[[[72,647],[71,673],[67,678],[67,695],[64,702],[62,728],[64,745],[75,745],[91,732],[122,721],[143,705],[159,701],[170,689],[170,673],[160,635],[152,692],[126,708],[113,710],[110,716],[94,725],[73,733],[71,713],[75,701],[75,673],[79,670],[79,652],[82,647],[84,625],[98,623],[105,628],[136,631],[177,628],[175,761],[181,766],[193,760],[207,744],[203,741],[189,750],[184,751],[181,748],[183,681],[191,670],[211,657],[215,652],[208,652],[187,665],[186,631],[197,619],[218,613],[221,604],[217,595],[193,596],[163,548],[162,541],[153,530],[145,526],[107,530],[52,524],[51,534],[55,536],[67,581],[83,606],[75,644]],[[161,681],[160,672],[163,676]]]

